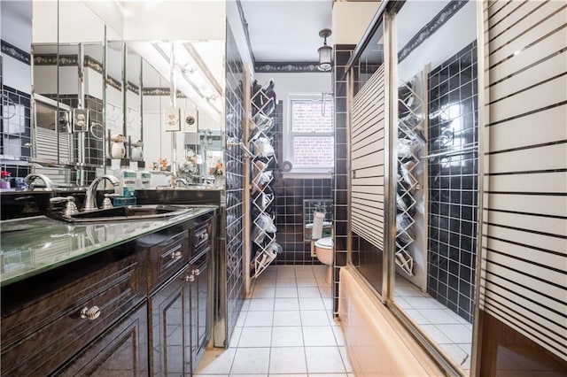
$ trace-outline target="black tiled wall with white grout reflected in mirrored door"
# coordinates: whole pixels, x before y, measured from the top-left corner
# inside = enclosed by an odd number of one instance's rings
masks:
[[[477,42],[429,75],[428,293],[472,320],[477,232]],[[458,152],[458,150],[464,150]]]

